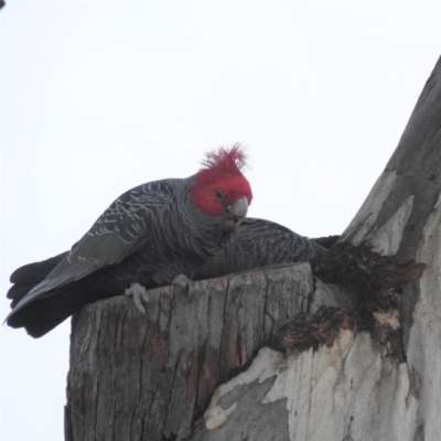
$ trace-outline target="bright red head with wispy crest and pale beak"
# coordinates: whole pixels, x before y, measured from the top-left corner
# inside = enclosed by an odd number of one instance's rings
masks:
[[[247,215],[252,193],[240,169],[246,164],[240,146],[206,154],[192,186],[192,198],[209,216],[225,216],[225,230],[234,232]]]

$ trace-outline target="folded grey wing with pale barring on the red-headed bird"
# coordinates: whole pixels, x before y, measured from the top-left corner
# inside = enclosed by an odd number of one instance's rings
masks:
[[[150,182],[118,197],[47,277],[24,295],[7,320],[28,303],[140,250],[149,240],[154,219],[166,205],[174,184],[175,180]]]

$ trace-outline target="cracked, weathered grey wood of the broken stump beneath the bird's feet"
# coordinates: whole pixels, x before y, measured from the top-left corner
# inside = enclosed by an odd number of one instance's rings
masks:
[[[67,440],[185,439],[215,386],[246,366],[313,292],[309,263],[86,305],[73,320]]]

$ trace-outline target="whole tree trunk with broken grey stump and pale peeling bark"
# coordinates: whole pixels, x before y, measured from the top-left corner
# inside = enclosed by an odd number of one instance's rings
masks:
[[[77,314],[66,440],[438,440],[440,225],[441,60],[318,278],[286,265]]]

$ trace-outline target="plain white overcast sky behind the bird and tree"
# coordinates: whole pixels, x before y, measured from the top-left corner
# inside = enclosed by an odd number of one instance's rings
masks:
[[[126,190],[236,141],[250,216],[342,233],[441,46],[441,3],[423,1],[12,0],[0,18],[3,294]],[[1,439],[62,440],[69,321],[1,332]]]

